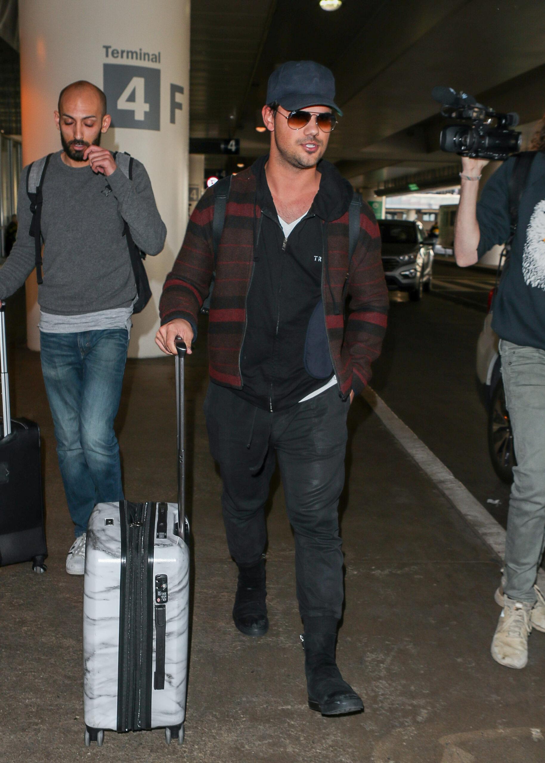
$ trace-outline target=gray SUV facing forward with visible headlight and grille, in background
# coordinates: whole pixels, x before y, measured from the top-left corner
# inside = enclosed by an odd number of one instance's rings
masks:
[[[417,301],[431,289],[434,239],[426,238],[424,227],[415,220],[379,220],[382,238],[382,266],[391,290],[408,291]]]

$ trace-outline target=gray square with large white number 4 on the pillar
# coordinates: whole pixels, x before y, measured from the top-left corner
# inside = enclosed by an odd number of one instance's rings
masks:
[[[160,69],[119,63],[103,66],[112,127],[160,130]]]

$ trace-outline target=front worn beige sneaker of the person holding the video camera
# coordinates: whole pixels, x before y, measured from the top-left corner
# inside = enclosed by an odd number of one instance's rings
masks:
[[[528,662],[528,636],[531,604],[505,598],[504,607],[498,620],[498,627],[492,639],[490,652],[500,665],[506,668],[524,668]]]

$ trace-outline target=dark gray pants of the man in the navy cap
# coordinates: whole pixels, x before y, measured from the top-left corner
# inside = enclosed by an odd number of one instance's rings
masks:
[[[266,545],[265,504],[279,460],[295,533],[299,611],[340,620],[343,554],[337,506],[344,484],[349,401],[337,386],[278,413],[257,408],[213,383],[205,400],[211,454],[219,462],[227,545],[252,565]]]

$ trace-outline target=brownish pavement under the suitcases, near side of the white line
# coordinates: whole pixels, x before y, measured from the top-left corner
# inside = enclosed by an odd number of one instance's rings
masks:
[[[408,305],[405,307],[409,307]],[[545,634],[523,671],[489,655],[498,560],[382,427],[350,411],[342,501],[346,610],[338,662],[365,713],[324,719],[306,706],[292,533],[275,481],[269,513],[270,629],[234,628],[236,570],[221,521],[202,401],[205,327],[187,362],[192,645],[185,744],[163,732],[107,732],[83,746],[82,578],[66,575],[73,530],[56,465],[39,357],[10,354],[15,414],[40,423],[47,500],[46,575],[0,570],[0,761],[519,763],[545,758]],[[173,361],[130,361],[118,417],[132,500],[176,497]]]

